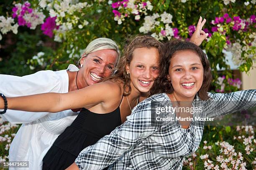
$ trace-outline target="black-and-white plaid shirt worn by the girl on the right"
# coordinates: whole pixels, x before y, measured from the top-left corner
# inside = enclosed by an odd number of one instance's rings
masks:
[[[209,93],[209,96],[211,99],[206,101],[196,97],[192,103],[203,106],[204,117],[256,105],[256,90]],[[165,93],[143,100],[123,125],[82,150],[75,163],[81,170],[100,170],[111,164],[110,170],[181,170],[184,156],[195,152],[200,144],[204,121],[192,121],[188,129],[181,128],[179,122],[152,123],[154,107],[166,105],[172,104]]]

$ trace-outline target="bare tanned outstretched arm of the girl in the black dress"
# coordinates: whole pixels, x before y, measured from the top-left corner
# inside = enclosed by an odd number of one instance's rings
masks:
[[[110,81],[90,85],[68,93],[43,93],[21,97],[7,97],[8,108],[29,112],[60,112],[62,110],[93,107],[110,98],[120,97],[120,87]],[[4,108],[0,99],[0,109]]]

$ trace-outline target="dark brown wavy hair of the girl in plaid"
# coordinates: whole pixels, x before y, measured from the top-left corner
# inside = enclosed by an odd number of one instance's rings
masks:
[[[200,47],[193,44],[192,42],[181,40],[171,40],[164,44],[164,47],[161,50],[163,60],[160,61],[160,75],[154,81],[154,85],[150,91],[151,95],[161,92],[172,93],[174,91],[172,84],[167,80],[167,75],[169,74],[170,61],[176,52],[184,50],[191,50],[200,57],[200,60],[204,68],[204,75],[202,87],[197,92],[197,94],[201,100],[207,100],[210,98],[207,94],[207,91],[212,81],[210,62]]]

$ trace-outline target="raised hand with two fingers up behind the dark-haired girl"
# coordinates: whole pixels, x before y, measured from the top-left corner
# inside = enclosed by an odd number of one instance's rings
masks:
[[[206,20],[204,19],[202,21],[202,17],[200,16],[197,27],[195,32],[193,33],[192,37],[190,38],[190,41],[193,42],[195,45],[199,46],[203,42],[203,40],[207,40],[208,33],[205,33],[202,30],[202,27],[205,25]]]

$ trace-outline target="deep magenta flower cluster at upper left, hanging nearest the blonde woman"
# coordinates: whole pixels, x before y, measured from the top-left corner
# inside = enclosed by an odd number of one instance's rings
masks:
[[[56,26],[55,20],[56,20],[56,17],[46,18],[44,24],[41,25],[41,30],[43,31],[44,35],[47,35],[49,37],[53,37],[53,30],[54,29],[56,29],[56,30],[59,29],[59,26]]]

